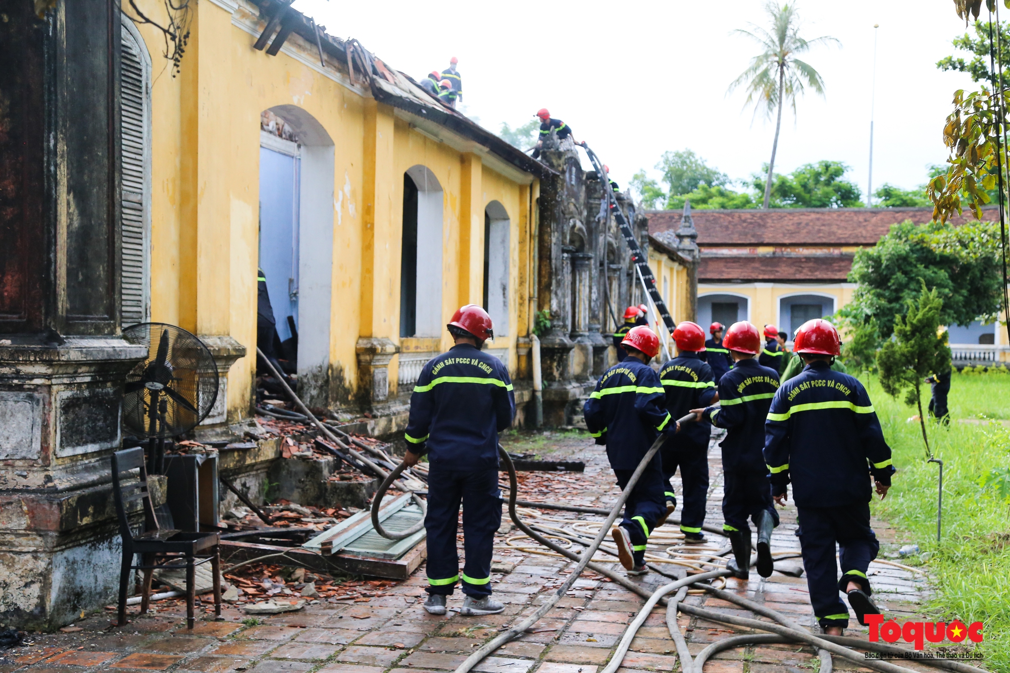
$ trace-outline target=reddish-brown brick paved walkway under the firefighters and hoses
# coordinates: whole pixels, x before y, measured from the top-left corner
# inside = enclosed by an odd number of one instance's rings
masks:
[[[616,497],[618,491],[613,486],[602,448],[592,446],[585,436],[512,438],[510,450],[534,451],[541,457],[572,457],[587,462],[583,474],[526,473],[522,481],[526,482],[527,490],[520,490],[522,497],[597,506],[607,506]],[[718,447],[713,445],[709,460],[712,487],[707,522],[718,525],[722,521]],[[543,488],[531,492],[532,484],[540,484]],[[546,488],[548,485],[551,488]],[[549,515],[567,516],[556,512]],[[574,514],[570,517],[577,518]],[[462,603],[459,592],[449,599],[448,615],[427,614],[421,607],[426,584],[422,566],[408,581],[385,589],[385,596],[357,603],[320,601],[299,612],[263,618],[260,624],[242,623],[247,617],[227,606],[224,621],[202,621],[193,632],[187,632],[181,618],[185,607],[175,605],[163,608],[157,615],[134,617],[125,628],[119,629],[109,626],[112,614],[103,611],[79,621],[76,626],[83,629],[81,632],[35,636],[29,647],[0,653],[3,655],[0,673],[15,670],[24,673],[448,671],[516,615],[535,609],[538,602],[549,595],[549,587],[559,586],[559,578],[573,566],[560,558],[509,549],[506,540],[514,534],[504,533],[507,527],[503,526],[502,535],[496,539],[495,560],[501,564],[497,567],[509,572],[495,574],[493,578],[495,595],[506,604],[503,614],[462,617],[452,610]],[[793,535],[795,527],[795,509],[787,508],[783,524],[773,539],[775,551],[799,548]],[[879,524],[878,532],[885,549],[889,549],[888,543],[894,542],[892,532]],[[723,539],[710,537],[715,538],[711,549],[724,544]],[[799,559],[794,562],[799,563]],[[615,567],[620,568],[619,565]],[[909,573],[877,564],[871,571],[872,581],[879,591],[878,604],[899,619],[913,615],[922,597],[923,583],[914,581]],[[637,581],[654,587],[670,580],[652,573]],[[727,590],[763,601],[801,623],[812,623],[804,578],[776,572],[763,580],[751,573],[751,580],[746,583],[727,580]],[[753,616],[746,610],[707,596],[690,596],[687,602],[740,616]],[[642,603],[640,597],[609,581],[581,579],[536,624],[535,633],[501,648],[477,670],[481,673],[597,673]],[[622,671],[679,670],[676,647],[667,631],[665,614],[665,608],[656,608],[649,615],[625,657]],[[851,623],[857,626],[854,620]],[[681,615],[680,624],[692,654],[731,633],[724,627],[686,615]],[[847,633],[860,634],[865,634],[865,630]],[[771,646],[723,653],[705,667],[705,673],[797,672],[816,670],[817,666],[817,659],[809,649]],[[909,667],[915,668],[914,665]],[[851,670],[856,667],[835,658],[835,668]]]

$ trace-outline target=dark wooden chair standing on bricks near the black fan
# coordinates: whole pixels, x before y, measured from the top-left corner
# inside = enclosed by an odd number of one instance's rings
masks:
[[[134,480],[130,470],[138,470]],[[221,615],[221,556],[220,536],[217,533],[186,533],[162,528],[150,494],[147,491],[147,471],[143,449],[127,449],[112,454],[112,493],[119,517],[119,535],[123,542],[122,568],[119,574],[119,626],[126,623],[126,585],[130,570],[143,571],[140,613],[147,611],[150,602],[150,580],[157,568],[186,568],[186,624],[193,629],[196,600],[196,566],[210,561],[214,575],[214,613]],[[142,502],[144,512],[143,533],[133,535],[129,526],[127,505]],[[133,565],[133,556],[140,555],[140,565]]]

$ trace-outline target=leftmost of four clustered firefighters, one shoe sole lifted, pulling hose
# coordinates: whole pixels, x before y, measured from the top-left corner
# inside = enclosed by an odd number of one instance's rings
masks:
[[[623,489],[659,434],[674,429],[676,422],[667,412],[660,376],[648,366],[660,352],[655,332],[648,327],[634,327],[622,346],[628,357],[600,377],[583,412],[596,444],[606,445],[610,467]],[[624,503],[624,519],[611,533],[628,575],[648,572],[645,545],[667,511],[664,490],[663,463],[658,453]]]

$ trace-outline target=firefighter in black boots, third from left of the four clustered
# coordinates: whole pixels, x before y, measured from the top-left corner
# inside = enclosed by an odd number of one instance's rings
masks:
[[[750,566],[750,527],[758,526],[758,574],[772,575],[772,528],[779,513],[772,502],[772,487],[765,467],[765,418],[779,389],[779,373],[754,358],[761,351],[758,327],[746,320],[726,330],[722,345],[733,359],[733,368],[719,380],[716,390],[721,407],[693,409],[700,418],[726,428],[722,447],[722,528],[729,537],[733,559],[726,569],[747,579]]]

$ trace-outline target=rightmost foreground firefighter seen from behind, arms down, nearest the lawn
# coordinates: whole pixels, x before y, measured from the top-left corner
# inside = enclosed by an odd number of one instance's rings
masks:
[[[765,444],[776,502],[785,505],[787,485],[793,484],[810,603],[821,628],[834,636],[848,626],[839,590],[860,623],[866,624],[866,614],[880,613],[870,601],[867,578],[880,549],[870,527],[870,481],[883,499],[895,471],[866,388],[830,368],[839,347],[838,332],[827,320],[800,326],[793,351],[807,365],[776,394]]]

